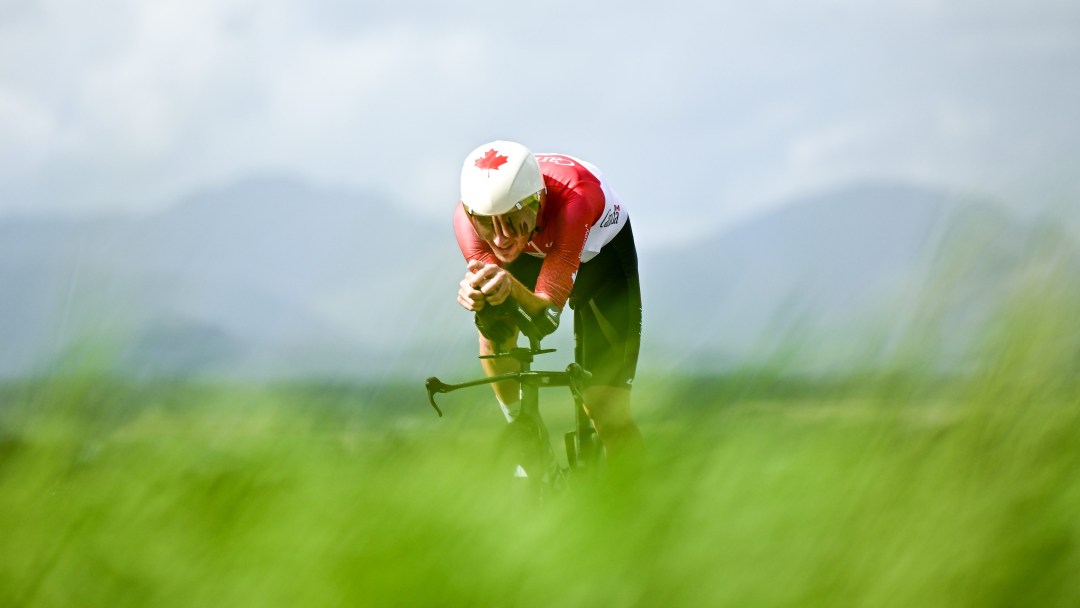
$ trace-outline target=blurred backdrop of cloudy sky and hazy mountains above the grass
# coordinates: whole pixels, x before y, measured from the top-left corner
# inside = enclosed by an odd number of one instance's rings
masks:
[[[626,202],[645,369],[916,335],[963,366],[1031,272],[1080,279],[1078,32],[1054,0],[6,2],[0,376],[459,365],[450,214],[494,138]]]

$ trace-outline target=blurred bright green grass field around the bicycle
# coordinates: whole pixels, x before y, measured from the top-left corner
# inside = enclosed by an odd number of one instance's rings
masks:
[[[419,379],[10,383],[0,605],[1077,606],[1055,310],[951,377],[644,376],[642,476],[543,505],[484,474],[486,393],[441,420]]]

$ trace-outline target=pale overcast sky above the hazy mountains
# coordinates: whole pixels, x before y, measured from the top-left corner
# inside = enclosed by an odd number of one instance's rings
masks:
[[[1077,108],[1076,0],[0,0],[0,216],[283,173],[448,218],[494,138],[657,234],[861,178],[1062,207]]]

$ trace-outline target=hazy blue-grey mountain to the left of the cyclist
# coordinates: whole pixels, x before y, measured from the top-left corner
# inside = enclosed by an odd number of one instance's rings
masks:
[[[257,179],[143,219],[0,222],[0,374],[72,352],[151,375],[386,373],[426,325],[446,333],[429,294],[453,302],[461,262],[449,211],[380,203]]]

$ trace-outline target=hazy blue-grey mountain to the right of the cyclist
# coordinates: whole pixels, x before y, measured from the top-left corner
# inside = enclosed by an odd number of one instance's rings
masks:
[[[1040,253],[1041,252],[1041,253]],[[674,367],[961,365],[1032,267],[1080,280],[1066,232],[987,202],[860,184],[643,261]],[[1058,259],[1059,258],[1059,259]],[[653,323],[654,326],[657,323]]]

